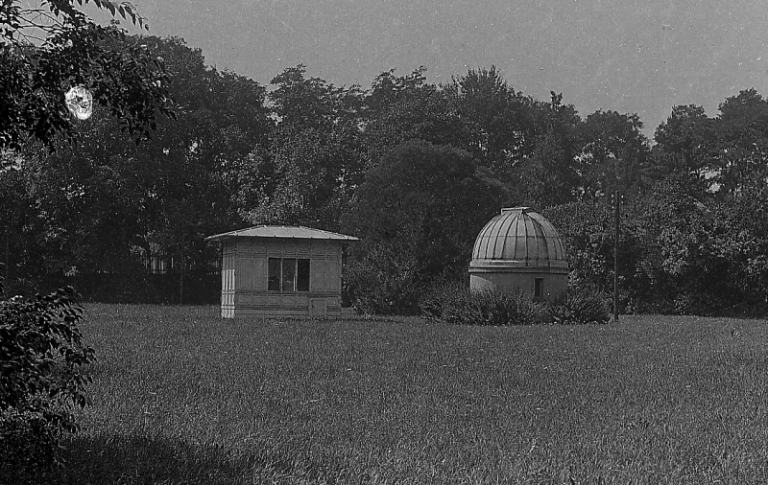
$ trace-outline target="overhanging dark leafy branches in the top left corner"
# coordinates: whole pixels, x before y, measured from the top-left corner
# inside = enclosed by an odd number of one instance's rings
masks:
[[[87,3],[47,0],[40,8],[22,7],[17,0],[0,3],[0,149],[19,149],[31,137],[49,146],[55,134],[69,137],[74,122],[64,93],[72,86],[89,89],[94,101],[138,138],[148,136],[158,113],[171,114],[163,60],[140,41],[126,48],[118,22],[96,24],[81,11]],[[94,4],[146,27],[128,3]]]

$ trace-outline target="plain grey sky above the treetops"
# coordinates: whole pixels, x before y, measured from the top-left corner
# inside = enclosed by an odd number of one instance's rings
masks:
[[[516,90],[563,93],[582,116],[637,113],[652,136],[679,104],[709,116],[726,97],[768,95],[765,0],[135,0],[154,35],[261,84],[307,66],[369,87],[424,65],[432,82],[501,70]]]

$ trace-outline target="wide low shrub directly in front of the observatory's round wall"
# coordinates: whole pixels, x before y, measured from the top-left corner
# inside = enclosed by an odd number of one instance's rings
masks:
[[[522,294],[471,292],[458,284],[434,288],[420,303],[428,321],[459,325],[533,325],[546,321],[546,306]]]

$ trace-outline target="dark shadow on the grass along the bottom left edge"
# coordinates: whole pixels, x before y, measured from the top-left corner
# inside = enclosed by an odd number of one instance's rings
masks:
[[[233,454],[167,438],[142,436],[76,437],[65,443],[60,469],[30,477],[55,484],[252,484],[366,483],[333,456],[319,461],[265,451],[256,445]],[[2,482],[2,480],[0,480]]]

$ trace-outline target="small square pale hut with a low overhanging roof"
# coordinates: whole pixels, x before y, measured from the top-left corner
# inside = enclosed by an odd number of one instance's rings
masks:
[[[303,226],[216,234],[223,318],[341,314],[342,245],[357,238]]]

